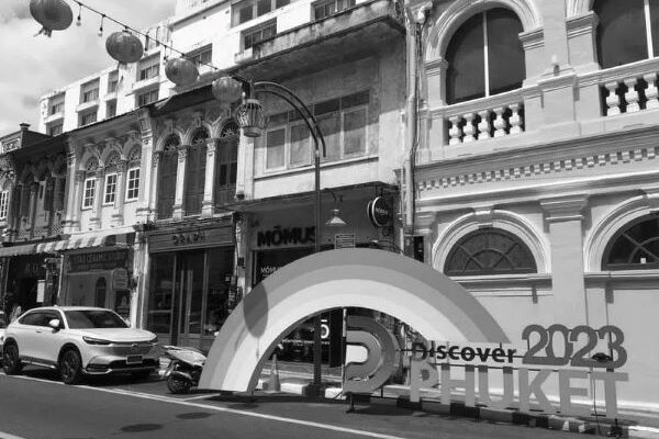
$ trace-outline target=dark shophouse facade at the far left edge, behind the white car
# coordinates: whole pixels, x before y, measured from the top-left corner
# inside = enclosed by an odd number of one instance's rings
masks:
[[[8,316],[54,303],[59,285],[65,144],[29,126],[0,137],[0,302]]]

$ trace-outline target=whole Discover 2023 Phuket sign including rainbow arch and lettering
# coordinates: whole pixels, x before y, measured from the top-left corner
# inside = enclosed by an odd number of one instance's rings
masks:
[[[347,342],[364,346],[368,354],[361,362],[346,364],[344,392],[379,389],[404,354],[410,359],[412,401],[418,401],[420,389],[439,385],[443,402],[450,401],[451,391],[461,389],[466,404],[473,406],[478,375],[480,404],[510,407],[517,393],[520,410],[556,413],[543,389],[554,374],[559,381],[560,413],[581,415],[582,407],[573,405],[572,397],[585,396],[588,389],[572,380],[590,376],[604,384],[606,414],[616,416],[616,383],[627,380],[625,373],[614,372],[626,361],[618,328],[568,329],[552,325],[545,329],[532,325],[522,334],[522,339],[529,342],[523,353],[511,345],[480,302],[443,273],[398,254],[359,248],[311,255],[256,285],[215,338],[199,386],[253,391],[264,363],[282,337],[310,316],[339,307],[379,311],[414,327],[426,340],[451,340],[416,342],[411,349],[402,349],[396,338],[375,320],[349,316]],[[556,335],[565,341],[559,353]],[[589,352],[600,341],[612,354],[592,359]],[[459,379],[458,368],[462,369]],[[496,398],[490,396],[490,374],[494,370],[502,374],[502,392]]]

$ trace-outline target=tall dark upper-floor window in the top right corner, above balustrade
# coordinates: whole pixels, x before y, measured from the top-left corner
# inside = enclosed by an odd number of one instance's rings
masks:
[[[659,55],[659,2],[595,0],[597,57],[602,68]]]

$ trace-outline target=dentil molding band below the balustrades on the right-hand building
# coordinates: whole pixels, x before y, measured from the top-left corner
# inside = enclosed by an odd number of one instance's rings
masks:
[[[525,178],[535,178],[540,175],[570,172],[594,167],[625,165],[632,161],[652,160],[658,155],[659,146],[644,146],[618,150],[611,154],[592,154],[578,158],[565,158],[551,161],[546,160],[532,165],[512,165],[506,168],[469,172],[437,179],[426,179],[416,184],[416,190],[423,192],[435,189],[488,183],[491,181],[523,180]]]

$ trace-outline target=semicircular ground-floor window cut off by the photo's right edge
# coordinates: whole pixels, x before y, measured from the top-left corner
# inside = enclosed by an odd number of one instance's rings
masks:
[[[643,217],[619,230],[606,246],[602,270],[659,268],[659,217]]]

